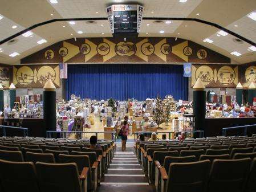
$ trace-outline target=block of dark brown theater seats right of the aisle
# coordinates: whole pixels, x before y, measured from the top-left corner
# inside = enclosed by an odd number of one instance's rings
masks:
[[[216,140],[218,143],[215,142]],[[240,143],[241,140],[242,143]],[[157,191],[180,191],[179,187],[182,191],[243,191],[253,189],[251,183],[256,181],[256,140],[254,137],[221,137],[221,139],[215,137],[168,142],[137,141],[135,152],[149,182],[155,184]],[[253,162],[251,162],[252,159],[254,159]],[[243,171],[245,164],[247,169]],[[236,165],[242,169],[237,169]],[[196,169],[198,172],[194,171]],[[218,169],[223,169],[224,172]],[[235,171],[230,171],[232,169]],[[217,182],[214,180],[216,173],[224,174],[223,179],[220,179],[221,185],[232,183],[232,175],[234,175],[235,179],[241,180],[238,182],[239,187],[233,185],[235,187],[228,190],[225,187],[218,188],[219,186],[214,188],[212,185]],[[247,187],[245,188],[246,181]],[[195,182],[201,184],[197,185]]]

